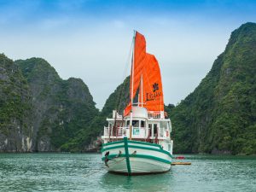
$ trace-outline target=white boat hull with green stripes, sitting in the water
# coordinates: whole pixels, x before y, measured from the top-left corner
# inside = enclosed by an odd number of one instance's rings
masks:
[[[171,169],[172,154],[157,144],[124,139],[103,145],[102,160],[108,172],[125,175],[154,174]]]

